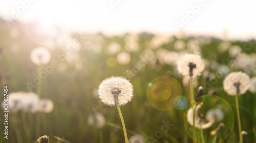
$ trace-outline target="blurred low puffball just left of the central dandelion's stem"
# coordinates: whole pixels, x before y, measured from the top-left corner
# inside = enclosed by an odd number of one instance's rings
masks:
[[[96,125],[97,128],[102,128],[106,124],[106,119],[101,113],[90,114],[87,123],[88,125]]]

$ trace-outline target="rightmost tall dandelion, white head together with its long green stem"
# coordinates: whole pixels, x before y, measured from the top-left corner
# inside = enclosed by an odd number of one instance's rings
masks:
[[[243,143],[241,135],[241,121],[238,105],[238,96],[244,94],[247,89],[250,87],[250,77],[241,71],[232,72],[229,74],[223,82],[224,90],[227,94],[235,96],[236,99],[236,110],[238,118],[238,130],[239,130],[239,140]]]

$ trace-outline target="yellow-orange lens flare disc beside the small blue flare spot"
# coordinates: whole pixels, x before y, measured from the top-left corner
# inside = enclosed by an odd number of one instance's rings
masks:
[[[147,100],[158,110],[167,111],[175,108],[174,99],[179,95],[182,95],[181,85],[173,77],[159,76],[148,84]]]

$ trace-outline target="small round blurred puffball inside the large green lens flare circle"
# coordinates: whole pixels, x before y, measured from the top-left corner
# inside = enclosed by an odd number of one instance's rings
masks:
[[[215,120],[216,122],[222,121],[224,118],[224,113],[220,108],[210,109],[206,113],[206,119],[208,121]]]

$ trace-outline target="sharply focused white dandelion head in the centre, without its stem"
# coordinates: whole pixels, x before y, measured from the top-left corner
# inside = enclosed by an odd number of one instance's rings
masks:
[[[100,83],[98,94],[108,106],[125,105],[132,100],[133,85],[124,77],[110,77]]]

